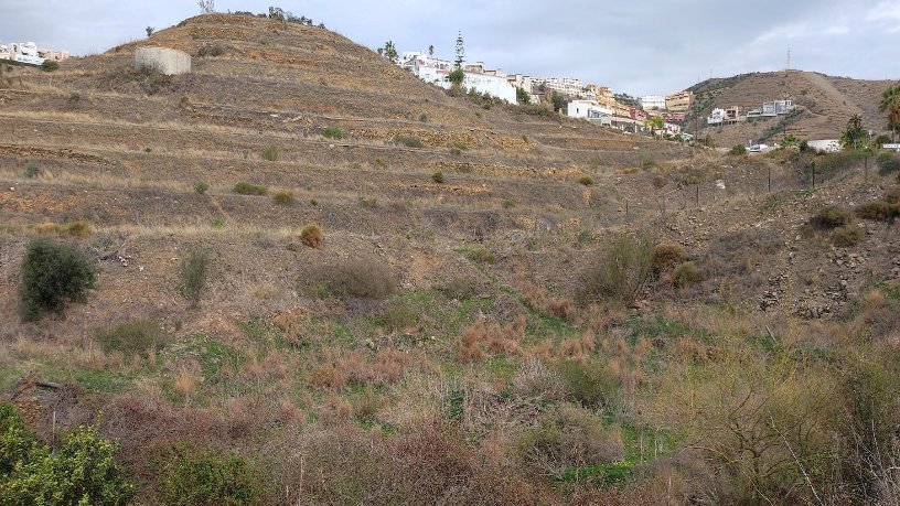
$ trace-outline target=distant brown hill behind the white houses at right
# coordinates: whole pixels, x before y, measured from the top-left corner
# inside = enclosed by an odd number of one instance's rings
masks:
[[[774,141],[784,133],[801,139],[835,139],[853,115],[863,117],[865,128],[881,132],[886,120],[878,112],[878,100],[881,91],[893,84],[892,80],[861,80],[790,71],[707,79],[689,89],[699,107],[696,119],[700,136],[708,133],[717,144],[732,146],[750,139]],[[793,99],[799,106],[797,114],[733,126],[706,126],[706,117],[716,107],[739,106],[741,112],[746,112],[760,108],[764,101],[785,98]],[[694,131],[694,117],[688,118],[688,131]]]

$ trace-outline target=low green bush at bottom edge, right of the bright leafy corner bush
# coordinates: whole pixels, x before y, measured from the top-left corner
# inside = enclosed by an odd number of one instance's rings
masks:
[[[171,506],[262,504],[260,476],[235,453],[218,456],[176,445],[159,477],[160,497]]]

